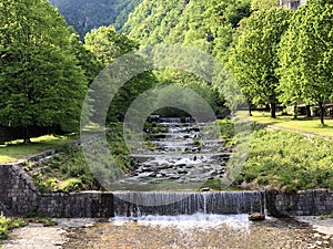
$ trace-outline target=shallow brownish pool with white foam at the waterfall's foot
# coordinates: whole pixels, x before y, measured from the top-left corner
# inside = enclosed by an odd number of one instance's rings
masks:
[[[64,248],[333,248],[332,237],[293,219],[248,221],[246,215],[118,217],[70,229]]]

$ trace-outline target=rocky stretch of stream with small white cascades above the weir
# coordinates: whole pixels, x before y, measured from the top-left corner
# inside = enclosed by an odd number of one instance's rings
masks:
[[[221,180],[232,149],[223,146],[216,124],[188,118],[160,118],[160,127],[147,128],[145,143],[131,149],[135,165],[109,190],[198,190],[208,179]],[[219,132],[216,132],[219,131]]]

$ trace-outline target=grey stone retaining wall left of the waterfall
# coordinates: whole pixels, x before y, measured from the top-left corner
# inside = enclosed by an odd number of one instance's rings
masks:
[[[24,163],[0,165],[0,208],[7,216],[112,217],[111,193],[42,194],[22,169]]]

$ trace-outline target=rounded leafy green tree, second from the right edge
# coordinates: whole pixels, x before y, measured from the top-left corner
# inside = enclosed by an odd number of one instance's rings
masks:
[[[289,17],[290,10],[278,8],[252,13],[228,63],[243,94],[254,104],[269,103],[273,118],[279,95],[276,53],[281,37],[289,27]]]

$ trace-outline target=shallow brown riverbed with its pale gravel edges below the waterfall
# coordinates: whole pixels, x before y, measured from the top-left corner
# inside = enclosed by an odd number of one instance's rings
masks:
[[[56,227],[32,224],[16,229],[2,248],[333,248],[330,218],[269,218],[252,222],[248,215],[196,214],[57,220]]]

